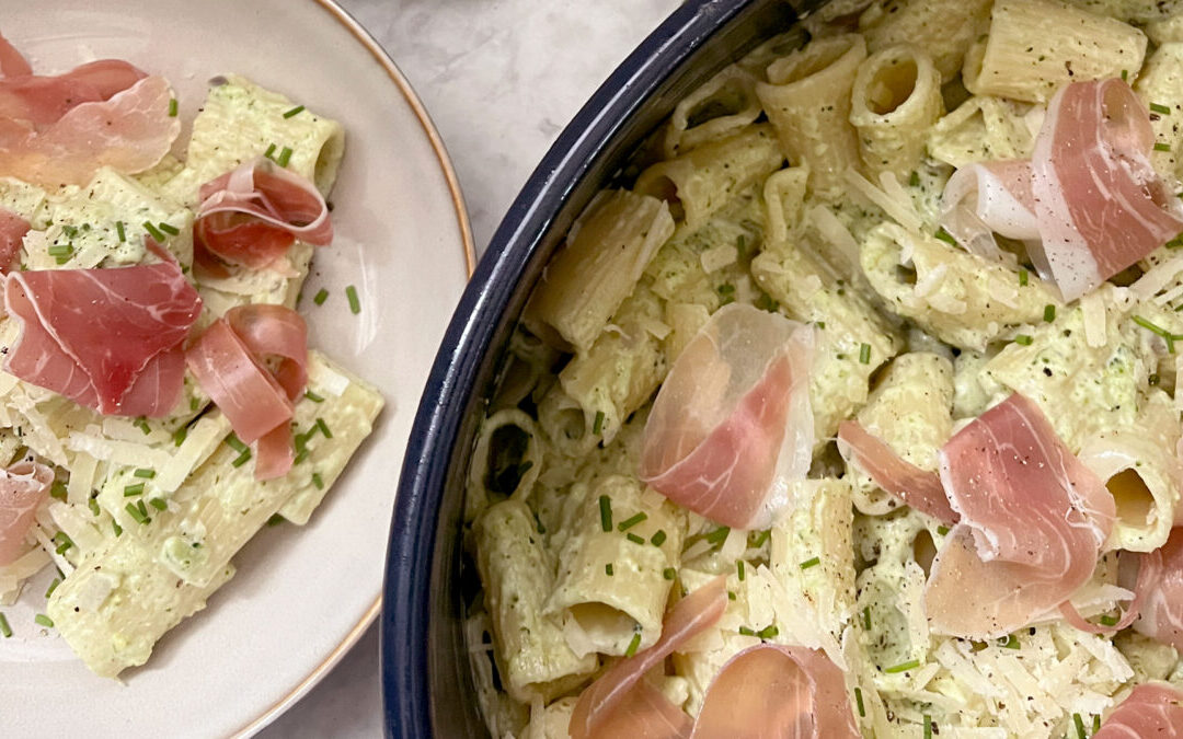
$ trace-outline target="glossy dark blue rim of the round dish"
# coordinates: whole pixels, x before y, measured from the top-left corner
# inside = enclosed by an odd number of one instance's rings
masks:
[[[526,265],[571,190],[658,86],[751,0],[689,0],[612,73],[558,136],[477,265],[424,390],[407,446],[387,549],[381,615],[386,732],[432,735],[431,559],[451,452],[478,370]]]

